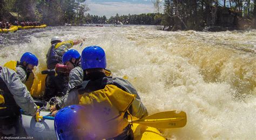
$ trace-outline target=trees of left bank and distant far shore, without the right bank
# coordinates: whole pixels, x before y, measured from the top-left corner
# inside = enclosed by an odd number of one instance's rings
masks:
[[[119,16],[96,16],[85,14],[89,8],[85,0],[2,0],[0,1],[0,21],[40,21],[49,26],[82,24],[143,24],[159,25],[156,13],[128,14]],[[13,18],[11,13],[16,13]]]

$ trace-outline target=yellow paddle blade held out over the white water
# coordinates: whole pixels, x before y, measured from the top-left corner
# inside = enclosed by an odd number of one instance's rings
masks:
[[[176,112],[176,110],[173,110],[168,112],[159,112],[143,119],[129,122],[143,124],[154,128],[180,128],[186,125],[187,115],[185,112]]]

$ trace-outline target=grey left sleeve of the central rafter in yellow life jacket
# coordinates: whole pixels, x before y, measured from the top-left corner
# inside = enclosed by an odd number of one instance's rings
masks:
[[[78,91],[77,89],[71,90],[69,93],[66,93],[66,95],[58,102],[58,107],[63,108],[70,105],[78,105],[79,99],[78,99]]]

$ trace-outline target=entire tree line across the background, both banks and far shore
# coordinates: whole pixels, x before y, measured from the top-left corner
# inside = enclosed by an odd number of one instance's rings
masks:
[[[151,0],[156,13],[93,16],[86,0],[2,0],[0,21],[40,21],[49,26],[82,24],[163,25],[163,30],[203,30],[206,26],[252,27],[256,17],[253,0]],[[222,4],[222,5],[221,5]],[[163,8],[161,7],[163,6]],[[161,12],[163,9],[163,13]],[[12,19],[16,13],[16,19]],[[12,16],[10,15],[12,14]],[[256,20],[254,20],[256,27]]]

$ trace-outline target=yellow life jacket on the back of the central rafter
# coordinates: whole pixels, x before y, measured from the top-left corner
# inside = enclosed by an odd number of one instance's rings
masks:
[[[97,139],[116,137],[129,124],[125,113],[135,95],[106,85],[104,89],[78,95],[79,104],[86,108],[86,132]]]

